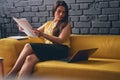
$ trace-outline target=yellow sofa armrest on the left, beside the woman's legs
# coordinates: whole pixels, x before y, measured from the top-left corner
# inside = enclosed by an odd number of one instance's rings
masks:
[[[43,38],[29,38],[24,40],[16,40],[13,38],[0,39],[0,57],[4,58],[4,73],[13,67],[19,53],[26,43],[44,43]]]

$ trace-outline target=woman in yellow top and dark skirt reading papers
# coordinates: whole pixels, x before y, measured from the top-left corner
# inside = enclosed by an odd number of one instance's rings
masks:
[[[60,60],[68,56],[71,26],[68,22],[68,6],[64,1],[57,1],[54,4],[53,16],[52,21],[33,30],[36,35],[45,39],[45,44],[27,43],[8,76],[16,76],[19,72],[18,77],[26,77],[32,73],[37,62]],[[21,27],[19,30],[22,30]]]

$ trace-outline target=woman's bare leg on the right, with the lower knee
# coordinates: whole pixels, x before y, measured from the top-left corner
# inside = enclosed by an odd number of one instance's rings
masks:
[[[23,64],[23,66],[18,74],[18,78],[29,77],[33,71],[34,65],[38,61],[39,61],[39,59],[36,57],[35,54],[31,54],[31,55],[27,56],[25,63]]]

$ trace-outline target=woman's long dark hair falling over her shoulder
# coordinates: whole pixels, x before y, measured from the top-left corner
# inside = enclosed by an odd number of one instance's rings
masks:
[[[68,24],[68,6],[65,3],[65,1],[60,1],[60,0],[56,1],[56,3],[53,6],[53,10],[52,10],[53,16],[59,6],[63,6],[65,8],[65,16],[61,21],[57,23],[56,27],[54,28],[53,30],[54,36],[59,36],[62,29]]]

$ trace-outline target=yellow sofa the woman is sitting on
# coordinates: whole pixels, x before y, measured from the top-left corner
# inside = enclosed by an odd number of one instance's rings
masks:
[[[45,80],[120,80],[119,35],[71,35],[72,56],[77,50],[98,48],[88,61],[67,63],[44,61],[35,65],[33,76]],[[4,58],[5,75],[14,65],[27,42],[44,42],[42,38],[0,39],[0,56]]]

